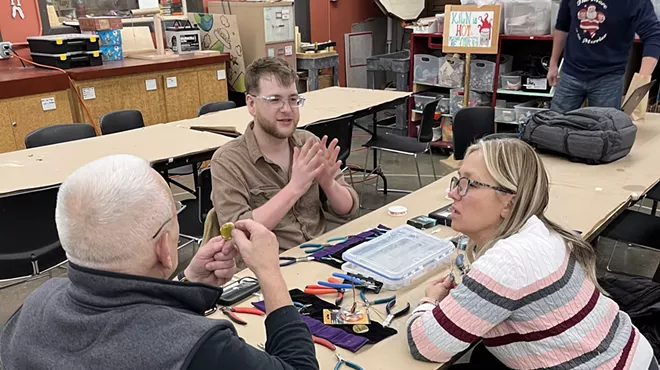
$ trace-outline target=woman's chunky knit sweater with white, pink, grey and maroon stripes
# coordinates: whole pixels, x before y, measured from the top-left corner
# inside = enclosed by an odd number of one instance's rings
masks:
[[[649,369],[653,350],[537,217],[477,259],[440,305],[408,320],[414,358],[447,362],[483,339],[513,369]]]

